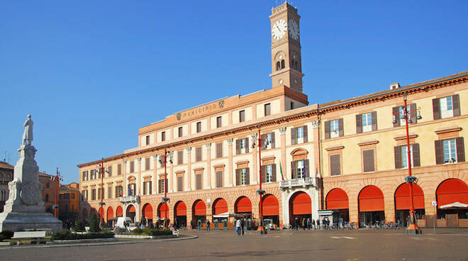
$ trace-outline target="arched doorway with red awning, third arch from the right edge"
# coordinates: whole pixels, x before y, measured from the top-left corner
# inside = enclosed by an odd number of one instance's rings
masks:
[[[360,227],[385,222],[384,194],[375,186],[364,187],[358,196]]]

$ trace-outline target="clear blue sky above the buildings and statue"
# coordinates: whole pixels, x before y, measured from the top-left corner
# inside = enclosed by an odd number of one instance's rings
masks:
[[[268,1],[1,1],[0,157],[41,171],[138,146],[174,112],[271,87]],[[293,2],[310,104],[467,70],[468,1]],[[332,91],[330,91],[332,90]]]

